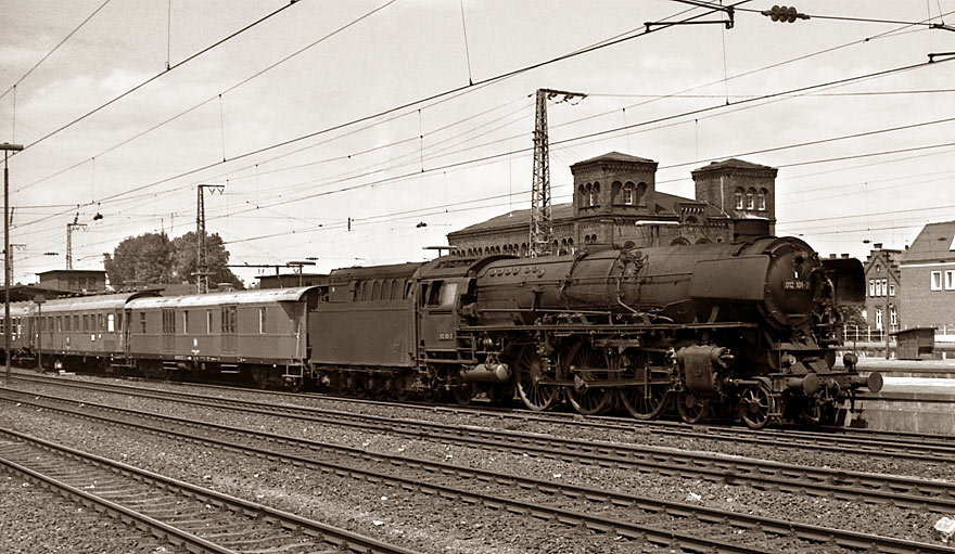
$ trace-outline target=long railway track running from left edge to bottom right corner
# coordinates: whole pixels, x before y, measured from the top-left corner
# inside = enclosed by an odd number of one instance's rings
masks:
[[[15,398],[11,398],[15,397]],[[26,400],[26,397],[34,399]],[[841,552],[953,554],[955,549],[772,519],[701,505],[687,505],[594,487],[456,466],[428,460],[371,453],[361,449],[290,436],[237,429],[155,413],[117,409],[35,394],[3,391],[0,398],[59,411],[97,424],[125,426],[138,434],[213,446],[326,474],[440,495],[492,510],[644,540],[688,552]],[[62,404],[76,404],[78,409]],[[103,412],[98,415],[91,411]],[[149,424],[142,423],[143,420]],[[186,429],[189,429],[187,431]],[[514,490],[520,490],[520,500]],[[557,500],[555,500],[557,499]],[[582,504],[589,505],[581,507]],[[595,504],[599,510],[595,510]],[[594,515],[598,512],[600,515]],[[691,531],[689,531],[691,530]]]

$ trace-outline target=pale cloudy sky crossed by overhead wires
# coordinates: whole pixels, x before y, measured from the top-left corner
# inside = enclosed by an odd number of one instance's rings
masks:
[[[0,0],[13,282],[149,232],[206,229],[246,284],[424,260],[530,207],[533,95],[555,203],[576,162],[659,163],[657,189],[739,157],[779,168],[777,234],[823,255],[955,220],[955,0],[768,1],[725,25],[673,0]],[[877,20],[877,21],[869,21]],[[931,25],[942,25],[932,28]],[[168,68],[167,68],[168,67]],[[14,88],[15,86],[15,88]],[[102,216],[101,218],[97,216]],[[96,219],[94,219],[96,218]],[[423,224],[422,224],[423,223]],[[244,267],[244,266],[250,267]]]

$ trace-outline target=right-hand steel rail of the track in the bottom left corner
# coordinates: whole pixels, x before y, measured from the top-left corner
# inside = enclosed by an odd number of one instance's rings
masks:
[[[362,534],[348,531],[347,529],[342,529],[339,527],[334,527],[331,525],[322,524],[320,521],[316,521],[314,519],[308,519],[306,517],[298,516],[296,514],[292,514],[290,512],[284,512],[281,510],[276,510],[263,504],[258,504],[255,502],[250,502],[247,500],[239,499],[235,497],[230,497],[228,494],[222,494],[220,492],[216,492],[211,489],[205,489],[202,487],[198,487],[195,485],[181,481],[178,479],[173,479],[170,477],[166,477],[153,472],[149,472],[145,469],[140,469],[138,467],[133,467],[131,465],[124,464],[122,462],[116,462],[113,460],[109,460],[106,458],[102,458],[96,454],[91,454],[88,452],[82,452],[80,450],[76,450],[69,447],[65,447],[63,445],[56,445],[55,442],[44,440],[38,437],[31,437],[29,435],[18,433],[12,429],[2,429],[0,428],[0,435],[5,435],[16,439],[20,442],[29,445],[35,448],[39,448],[46,450],[48,452],[54,453],[59,456],[65,456],[75,461],[82,462],[85,464],[89,464],[96,467],[103,468],[111,473],[123,475],[132,479],[136,479],[140,482],[153,484],[156,488],[161,488],[166,491],[179,492],[183,495],[187,495],[192,499],[201,499],[204,502],[217,505],[217,506],[226,506],[227,510],[230,510],[237,514],[244,514],[254,519],[268,521],[275,525],[278,525],[280,528],[288,529],[297,529],[305,536],[311,537],[319,542],[326,542],[332,544],[338,547],[346,547],[353,552],[360,552],[364,554],[420,554],[417,551],[405,549],[403,546],[396,546],[393,544],[389,544],[378,539],[373,539],[371,537],[365,537]],[[2,452],[0,452],[2,454]],[[2,459],[2,455],[0,455]],[[47,479],[49,480],[49,479]],[[72,491],[71,491],[72,492]],[[77,490],[77,492],[84,492]],[[94,497],[90,493],[85,493],[82,497],[87,500],[92,501],[92,499],[88,499],[87,497]],[[104,499],[100,499],[104,500]],[[105,501],[105,500],[104,500]],[[105,501],[107,502],[107,501]],[[115,504],[115,503],[111,503]],[[117,508],[122,508],[123,506],[116,504]],[[131,510],[125,510],[125,512],[132,513],[131,516],[135,516],[135,512]],[[137,519],[139,519],[137,517]],[[166,532],[166,528],[170,530],[175,530],[175,527],[168,526],[167,524],[163,524],[162,521],[155,520],[155,524],[161,524],[162,527],[156,527],[157,529],[162,529],[163,532]],[[150,523],[150,526],[155,525]],[[184,531],[180,531],[183,536],[189,534]],[[178,536],[179,533],[177,533]],[[183,540],[186,537],[183,537]],[[195,543],[196,545],[202,546],[203,549],[199,552],[216,552],[216,553],[232,553],[230,549],[224,549],[218,546],[209,541],[205,541],[201,538],[196,538],[199,541],[190,540],[187,544]]]

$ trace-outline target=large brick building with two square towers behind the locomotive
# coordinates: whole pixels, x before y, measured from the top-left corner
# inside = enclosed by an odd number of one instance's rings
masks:
[[[726,159],[692,171],[696,198],[657,191],[657,162],[619,152],[571,166],[573,202],[551,207],[553,252],[588,244],[633,248],[733,240],[734,219],[776,222],[776,169]],[[525,256],[531,210],[448,233],[451,254]]]

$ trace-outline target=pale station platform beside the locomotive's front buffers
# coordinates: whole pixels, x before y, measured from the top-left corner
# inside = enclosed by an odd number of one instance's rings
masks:
[[[899,369],[899,364],[920,363],[890,362],[892,369]],[[938,363],[933,361],[933,365]],[[856,400],[856,411],[846,414],[846,427],[955,436],[955,368],[948,378],[896,376],[899,373],[862,361],[858,371],[862,374],[879,371],[884,385],[878,394],[866,394]]]

